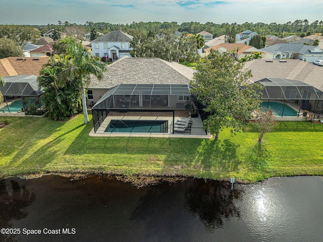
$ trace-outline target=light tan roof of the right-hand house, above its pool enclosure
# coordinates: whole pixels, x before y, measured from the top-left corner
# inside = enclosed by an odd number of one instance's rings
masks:
[[[270,60],[263,59],[245,62],[246,69],[251,70],[253,82],[264,78],[284,78],[305,82],[323,91],[323,68],[315,66],[305,61],[290,60]]]

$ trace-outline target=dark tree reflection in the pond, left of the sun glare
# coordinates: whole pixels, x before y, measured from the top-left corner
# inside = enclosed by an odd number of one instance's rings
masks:
[[[240,211],[234,204],[239,190],[231,190],[227,182],[197,179],[186,193],[189,209],[198,214],[207,230],[223,227],[223,219],[240,217]]]

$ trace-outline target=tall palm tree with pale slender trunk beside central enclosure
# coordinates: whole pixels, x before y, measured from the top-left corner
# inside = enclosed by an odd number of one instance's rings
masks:
[[[67,80],[76,79],[82,93],[82,107],[84,113],[84,124],[89,123],[86,109],[85,85],[90,83],[90,75],[96,76],[99,80],[103,78],[103,72],[106,71],[106,64],[96,60],[92,53],[88,52],[86,47],[77,42],[73,37],[66,37],[61,40],[65,46],[65,52],[71,56],[69,66],[58,76],[58,82],[62,86]]]

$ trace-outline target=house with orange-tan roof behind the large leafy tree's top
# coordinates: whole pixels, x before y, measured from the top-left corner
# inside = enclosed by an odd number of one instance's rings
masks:
[[[205,49],[205,56],[208,56],[211,50],[216,50],[220,53],[235,51],[234,57],[237,61],[253,52],[261,52],[255,47],[243,43],[222,43]],[[264,54],[263,57],[265,57]]]

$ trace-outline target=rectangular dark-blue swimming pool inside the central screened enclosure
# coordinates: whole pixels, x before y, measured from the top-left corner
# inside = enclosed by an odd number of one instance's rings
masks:
[[[167,120],[111,120],[108,133],[168,133]]]

